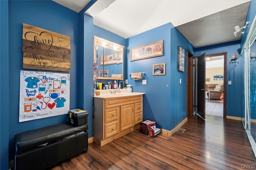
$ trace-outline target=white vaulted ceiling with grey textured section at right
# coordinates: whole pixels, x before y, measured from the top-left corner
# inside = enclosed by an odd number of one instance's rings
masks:
[[[80,12],[90,0],[53,0]],[[171,22],[194,47],[240,40],[250,0],[98,0],[86,14],[94,25],[130,38]]]

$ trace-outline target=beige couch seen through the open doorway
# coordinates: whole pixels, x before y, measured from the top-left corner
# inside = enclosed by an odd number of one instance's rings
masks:
[[[207,96],[210,100],[220,99],[220,96],[224,91],[223,84],[207,84],[205,88],[208,90]]]

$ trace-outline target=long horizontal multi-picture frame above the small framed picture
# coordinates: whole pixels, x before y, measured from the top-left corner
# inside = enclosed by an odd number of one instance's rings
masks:
[[[164,41],[160,40],[139,47],[132,48],[130,51],[130,61],[159,57],[163,55]]]

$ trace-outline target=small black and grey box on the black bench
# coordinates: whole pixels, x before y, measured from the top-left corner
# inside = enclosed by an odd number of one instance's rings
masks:
[[[88,111],[83,111],[82,109],[72,109],[68,111],[70,123],[74,126],[81,126],[87,124]]]

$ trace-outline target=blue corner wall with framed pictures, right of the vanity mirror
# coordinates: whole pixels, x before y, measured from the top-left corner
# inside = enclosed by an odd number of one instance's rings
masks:
[[[159,40],[164,40],[163,56],[130,61],[130,49]],[[132,80],[126,75],[134,92],[145,93],[143,120],[153,119],[166,130],[171,130],[186,118],[186,70],[183,73],[177,71],[178,45],[185,51],[193,51],[193,46],[171,23],[126,40],[128,73],[146,73],[143,75],[146,85],[142,85],[142,80]],[[158,63],[166,63],[165,75],[152,75],[152,65]]]

